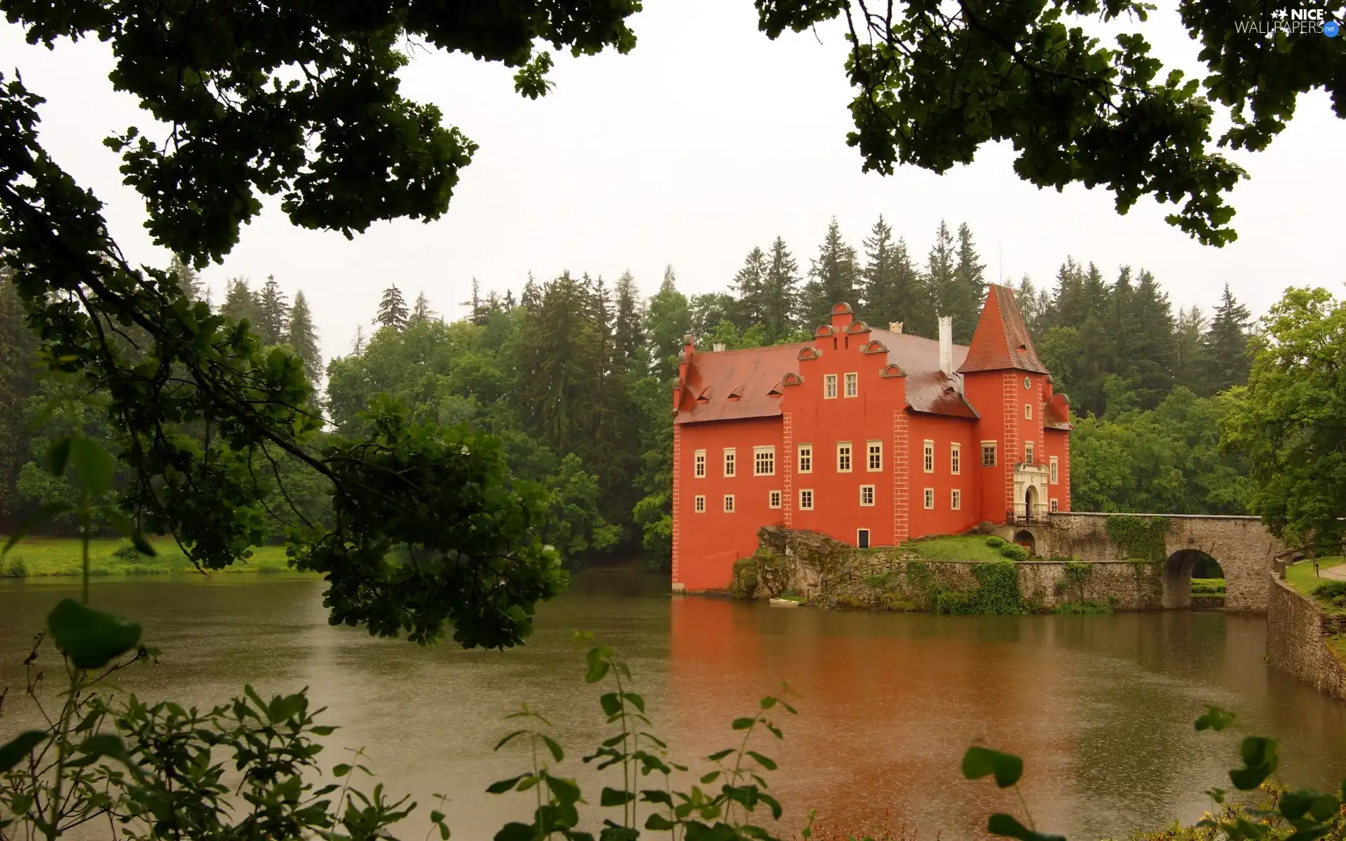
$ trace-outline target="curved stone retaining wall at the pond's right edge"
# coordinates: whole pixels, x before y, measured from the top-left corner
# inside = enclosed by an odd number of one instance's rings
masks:
[[[1289,584],[1272,579],[1267,604],[1267,662],[1319,692],[1346,701],[1346,667],[1327,636],[1346,631],[1346,616],[1326,615]]]

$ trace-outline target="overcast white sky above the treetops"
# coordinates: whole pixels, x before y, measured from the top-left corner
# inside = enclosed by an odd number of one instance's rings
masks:
[[[481,144],[446,218],[381,223],[346,241],[291,227],[269,206],[225,264],[205,272],[215,300],[226,277],[275,275],[289,293],[306,291],[331,357],[349,350],[357,324],[367,328],[392,283],[408,297],[424,289],[448,318],[463,314],[472,277],[517,292],[530,270],[615,280],[630,269],[649,295],[672,264],[692,295],[723,289],[744,254],[778,234],[806,268],[833,215],[859,248],[880,213],[921,258],[941,218],[965,221],[988,277],[1003,265],[1003,276],[1050,283],[1073,254],[1109,279],[1121,264],[1152,270],[1175,307],[1209,308],[1229,283],[1260,315],[1288,285],[1341,292],[1346,280],[1337,171],[1346,121],[1324,94],[1302,98],[1268,152],[1238,156],[1252,175],[1233,195],[1240,240],[1213,249],[1166,225],[1167,210],[1148,199],[1119,217],[1100,190],[1039,191],[1014,175],[1005,148],[984,148],[944,176],[861,174],[845,145],[851,93],[839,28],[770,42],[748,0],[646,0],[633,26],[639,43],[630,55],[563,58],[555,92],[536,102],[517,97],[498,65],[417,57],[404,92],[436,102]],[[1154,17],[1145,34],[1160,58],[1190,67],[1195,46],[1174,13]],[[127,253],[167,264],[141,229],[136,194],[120,184],[116,155],[101,145],[148,122],[106,82],[106,46],[48,52],[0,23],[0,57],[47,97],[43,141],[108,205]]]

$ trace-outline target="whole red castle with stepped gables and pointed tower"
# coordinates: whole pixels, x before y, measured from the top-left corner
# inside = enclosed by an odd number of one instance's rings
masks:
[[[1005,287],[972,344],[848,304],[812,342],[697,351],[673,389],[673,588],[720,589],[765,525],[857,546],[1070,510],[1070,425]]]

